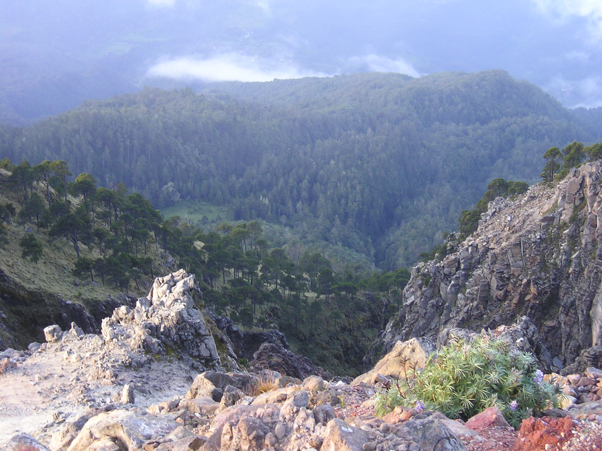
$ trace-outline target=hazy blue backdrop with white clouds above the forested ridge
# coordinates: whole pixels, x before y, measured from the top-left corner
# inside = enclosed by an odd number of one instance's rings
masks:
[[[0,120],[143,85],[483,69],[602,105],[602,0],[0,0]]]

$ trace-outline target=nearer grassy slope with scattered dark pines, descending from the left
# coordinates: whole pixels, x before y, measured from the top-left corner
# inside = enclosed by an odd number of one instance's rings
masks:
[[[0,161],[0,313],[10,326],[2,325],[0,345],[31,342],[51,313],[46,299],[98,316],[107,313],[98,313],[107,296],[146,295],[157,274],[184,268],[200,282],[199,306],[243,327],[279,328],[296,352],[355,375],[399,308],[405,268],[336,274],[318,253],[295,264],[268,243],[258,221],[203,233],[178,216],[164,220],[123,183],[97,188],[85,173],[65,183],[69,173],[63,161]]]

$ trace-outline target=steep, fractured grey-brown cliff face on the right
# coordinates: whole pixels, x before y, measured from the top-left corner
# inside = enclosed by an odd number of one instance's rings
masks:
[[[600,366],[601,214],[600,161],[571,170],[555,186],[495,199],[477,232],[461,243],[448,240],[442,261],[412,269],[379,354],[398,340],[435,341],[446,329],[494,329],[527,316],[536,328],[529,345],[545,369],[559,372],[582,351],[581,366]]]

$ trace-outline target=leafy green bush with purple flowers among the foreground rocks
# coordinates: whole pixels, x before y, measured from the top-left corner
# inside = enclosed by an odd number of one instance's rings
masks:
[[[452,419],[467,420],[497,406],[514,428],[521,420],[557,407],[559,388],[543,381],[531,354],[511,349],[502,340],[479,336],[469,343],[453,340],[427,360],[424,369],[380,391],[376,413],[423,402]]]

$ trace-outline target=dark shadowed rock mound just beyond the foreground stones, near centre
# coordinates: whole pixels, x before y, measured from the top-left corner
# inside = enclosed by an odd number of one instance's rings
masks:
[[[333,377],[323,368],[315,366],[307,357],[285,349],[280,342],[261,345],[249,364],[256,371],[267,369],[297,379],[305,379],[311,375],[322,376],[325,379]]]

